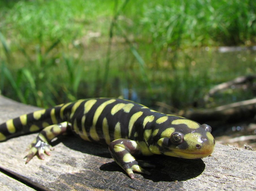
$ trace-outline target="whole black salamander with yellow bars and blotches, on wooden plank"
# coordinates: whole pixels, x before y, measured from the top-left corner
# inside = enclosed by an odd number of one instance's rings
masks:
[[[39,130],[26,163],[36,154],[41,159],[50,155],[51,140],[72,131],[86,141],[108,144],[112,158],[132,179],[134,171],[150,174],[144,167],[154,167],[135,156],[197,159],[209,156],[215,146],[209,125],[115,98],[78,100],[8,120],[0,125],[0,141]]]

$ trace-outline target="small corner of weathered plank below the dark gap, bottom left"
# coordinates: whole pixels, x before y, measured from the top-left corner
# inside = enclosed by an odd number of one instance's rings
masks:
[[[19,182],[16,179],[13,179],[10,176],[0,172],[0,190],[27,190],[32,191],[33,188]]]

